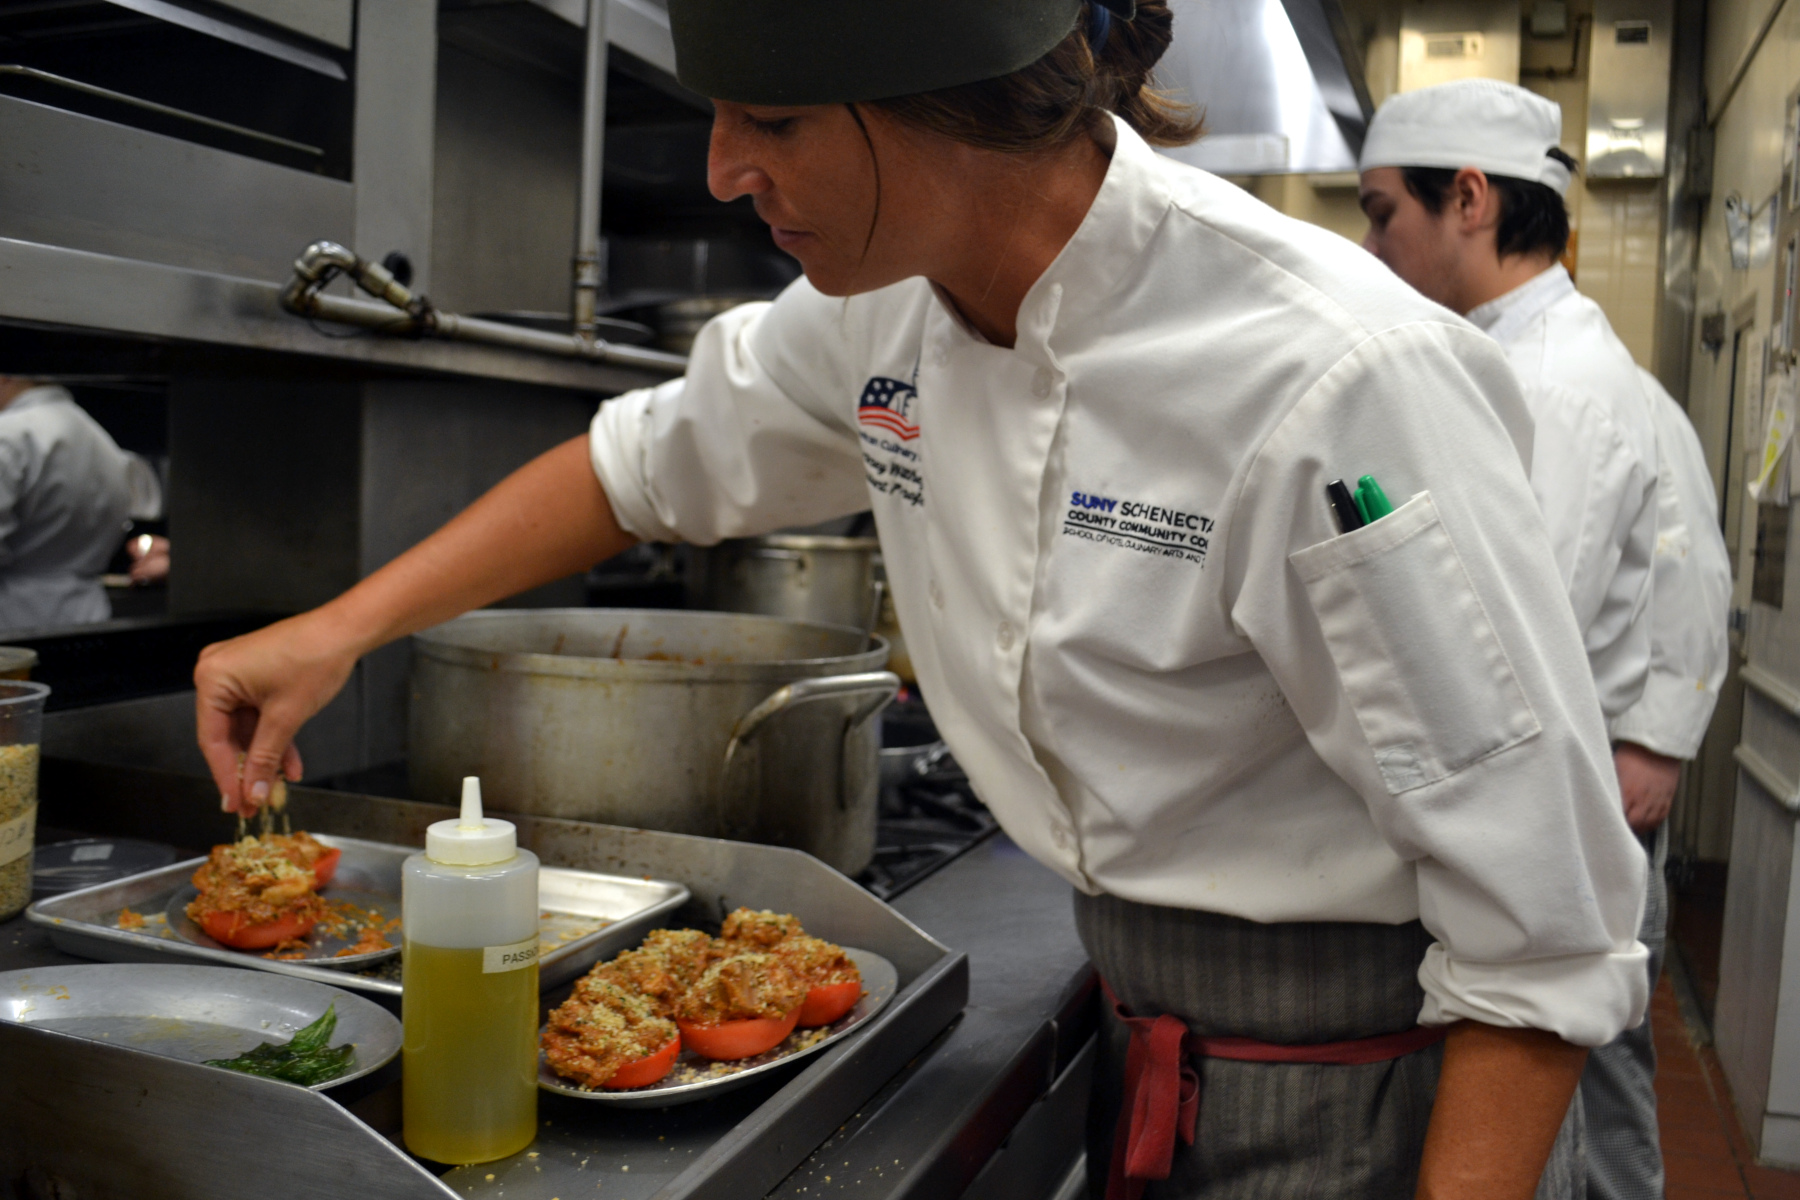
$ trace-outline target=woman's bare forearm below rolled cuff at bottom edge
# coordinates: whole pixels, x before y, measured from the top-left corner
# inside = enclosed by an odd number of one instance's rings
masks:
[[[1451,1025],[1417,1200],[1530,1200],[1586,1061],[1543,1029]]]

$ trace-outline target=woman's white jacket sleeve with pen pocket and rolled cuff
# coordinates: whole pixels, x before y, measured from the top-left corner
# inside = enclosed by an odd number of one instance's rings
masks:
[[[1521,408],[1472,329],[1366,340],[1246,475],[1231,612],[1314,750],[1413,864],[1436,937],[1420,1020],[1600,1045],[1649,999],[1643,851],[1507,434]],[[1339,534],[1325,484],[1363,473],[1400,507]],[[1271,554],[1283,561],[1256,561]]]

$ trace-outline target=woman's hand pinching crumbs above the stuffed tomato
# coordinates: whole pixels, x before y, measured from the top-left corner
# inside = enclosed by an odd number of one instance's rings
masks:
[[[200,651],[200,752],[227,813],[248,817],[261,808],[277,772],[290,781],[301,777],[293,734],[344,687],[356,651],[333,637],[320,610]]]

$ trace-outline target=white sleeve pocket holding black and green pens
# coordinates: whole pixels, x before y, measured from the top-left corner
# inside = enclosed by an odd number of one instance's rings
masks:
[[[1539,730],[1429,491],[1289,561],[1388,792],[1438,783]]]

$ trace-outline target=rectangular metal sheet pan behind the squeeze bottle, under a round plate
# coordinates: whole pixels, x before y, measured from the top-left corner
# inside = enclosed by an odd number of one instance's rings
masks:
[[[362,838],[315,835],[326,846],[344,851],[335,887],[358,903],[383,896],[400,910],[400,867],[418,849]],[[311,961],[265,959],[254,952],[227,950],[203,934],[182,937],[184,921],[169,921],[171,900],[189,885],[189,876],[205,862],[189,858],[157,871],[146,871],[112,883],[85,887],[63,896],[40,900],[25,910],[27,919],[45,927],[59,950],[104,963],[211,963],[245,966],[277,975],[310,979],[389,997],[400,997],[400,961],[387,957],[373,966],[362,961],[320,957]],[[574,979],[601,957],[635,945],[666,914],[688,903],[680,883],[644,876],[601,874],[569,867],[544,867],[538,874],[540,939],[538,986],[553,988]],[[121,910],[144,916],[144,928],[119,928]],[[392,934],[400,941],[400,934]],[[335,963],[335,964],[333,964]]]

